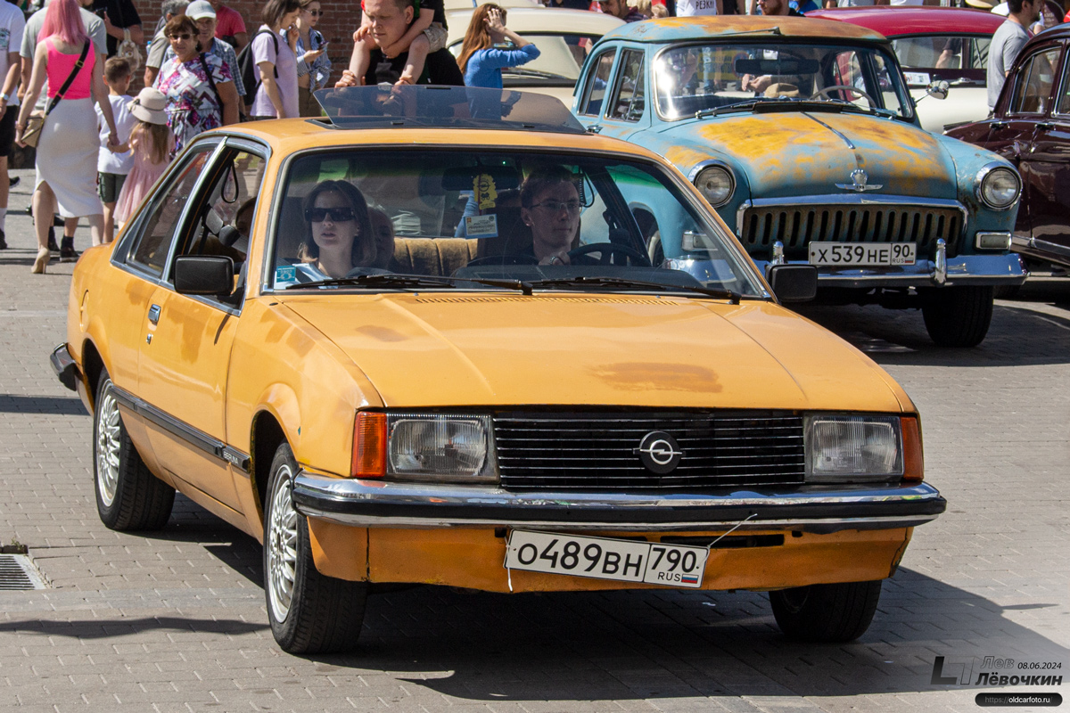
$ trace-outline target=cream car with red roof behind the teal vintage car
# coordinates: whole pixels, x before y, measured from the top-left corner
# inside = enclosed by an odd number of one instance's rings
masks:
[[[807,13],[807,17],[850,22],[891,40],[926,130],[939,134],[948,124],[989,115],[989,43],[1006,17],[923,5],[838,7]],[[929,87],[939,81],[949,84],[947,99],[927,97]]]

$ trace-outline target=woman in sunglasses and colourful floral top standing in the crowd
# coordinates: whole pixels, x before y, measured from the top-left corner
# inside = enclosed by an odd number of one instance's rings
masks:
[[[174,57],[159,68],[156,89],[167,96],[167,125],[175,156],[195,136],[238,123],[238,89],[218,55],[201,52],[197,24],[175,15],[164,27]]]

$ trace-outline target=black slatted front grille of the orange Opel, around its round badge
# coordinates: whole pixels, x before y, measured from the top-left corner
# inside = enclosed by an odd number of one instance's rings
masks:
[[[662,431],[684,452],[663,476],[637,452]],[[502,486],[536,491],[698,490],[802,482],[802,417],[784,412],[503,413]]]

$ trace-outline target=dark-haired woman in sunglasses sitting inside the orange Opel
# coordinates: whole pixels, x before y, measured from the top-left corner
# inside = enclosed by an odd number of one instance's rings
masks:
[[[297,281],[346,277],[354,268],[362,274],[384,270],[377,264],[376,237],[368,203],[361,191],[345,181],[324,181],[304,201],[308,232],[299,250]]]

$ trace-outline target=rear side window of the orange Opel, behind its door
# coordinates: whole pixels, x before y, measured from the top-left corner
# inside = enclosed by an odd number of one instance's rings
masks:
[[[146,208],[149,215],[141,223],[141,234],[131,246],[128,263],[156,276],[164,273],[179,218],[182,217],[189,195],[214,150],[215,144],[207,144],[193,156],[187,155],[185,166],[171,180],[171,185],[152,199],[152,203]]]

